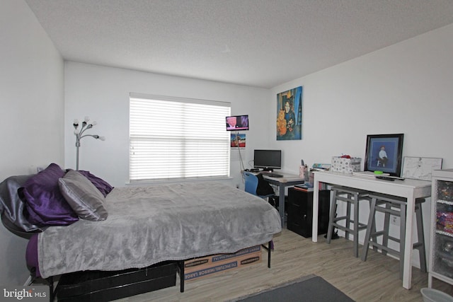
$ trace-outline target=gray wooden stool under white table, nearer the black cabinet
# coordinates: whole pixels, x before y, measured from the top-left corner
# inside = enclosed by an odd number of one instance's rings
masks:
[[[365,223],[359,222],[359,203],[363,200],[366,200],[367,203],[369,203],[370,199],[368,194],[370,192],[342,186],[333,186],[331,187],[331,191],[331,214],[328,221],[327,243],[331,243],[334,227],[345,231],[346,239],[349,239],[349,235],[352,234],[354,237],[354,256],[359,257],[359,231],[367,228]],[[339,201],[346,202],[346,216],[336,217],[336,208]],[[351,204],[354,206],[354,216],[352,218]],[[338,224],[339,221],[345,221],[345,226]]]

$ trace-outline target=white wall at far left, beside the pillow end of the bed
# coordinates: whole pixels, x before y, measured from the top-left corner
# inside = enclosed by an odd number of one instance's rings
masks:
[[[64,64],[25,1],[1,1],[0,40],[3,181],[38,165],[63,163]],[[0,284],[23,284],[26,240],[1,225],[0,243]]]

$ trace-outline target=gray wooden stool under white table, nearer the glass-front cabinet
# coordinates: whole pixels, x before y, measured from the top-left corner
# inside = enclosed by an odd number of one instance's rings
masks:
[[[367,253],[369,246],[379,248],[382,254],[386,255],[387,252],[391,255],[399,257],[399,272],[400,278],[403,277],[404,267],[404,240],[406,235],[406,206],[407,199],[404,197],[397,197],[389,194],[371,193],[371,208],[369,209],[369,220],[367,233],[362,251],[362,261],[367,260]],[[420,256],[420,270],[426,272],[426,254],[425,254],[425,235],[423,233],[423,214],[422,203],[425,202],[424,198],[415,199],[415,219],[417,221],[417,237],[418,242],[413,244],[413,249],[418,250]],[[377,212],[384,213],[384,229],[376,231],[376,216]],[[399,239],[389,236],[390,215],[400,217]],[[382,236],[382,244],[377,243],[377,236]],[[373,238],[371,240],[370,238]],[[389,248],[389,240],[399,243],[399,251]]]

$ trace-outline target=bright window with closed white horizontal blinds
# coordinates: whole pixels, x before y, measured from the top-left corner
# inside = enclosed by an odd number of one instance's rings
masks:
[[[230,103],[130,95],[130,181],[229,176]]]

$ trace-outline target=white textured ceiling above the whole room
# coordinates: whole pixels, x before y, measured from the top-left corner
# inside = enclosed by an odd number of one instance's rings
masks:
[[[271,88],[453,23],[453,0],[25,0],[74,62]]]

